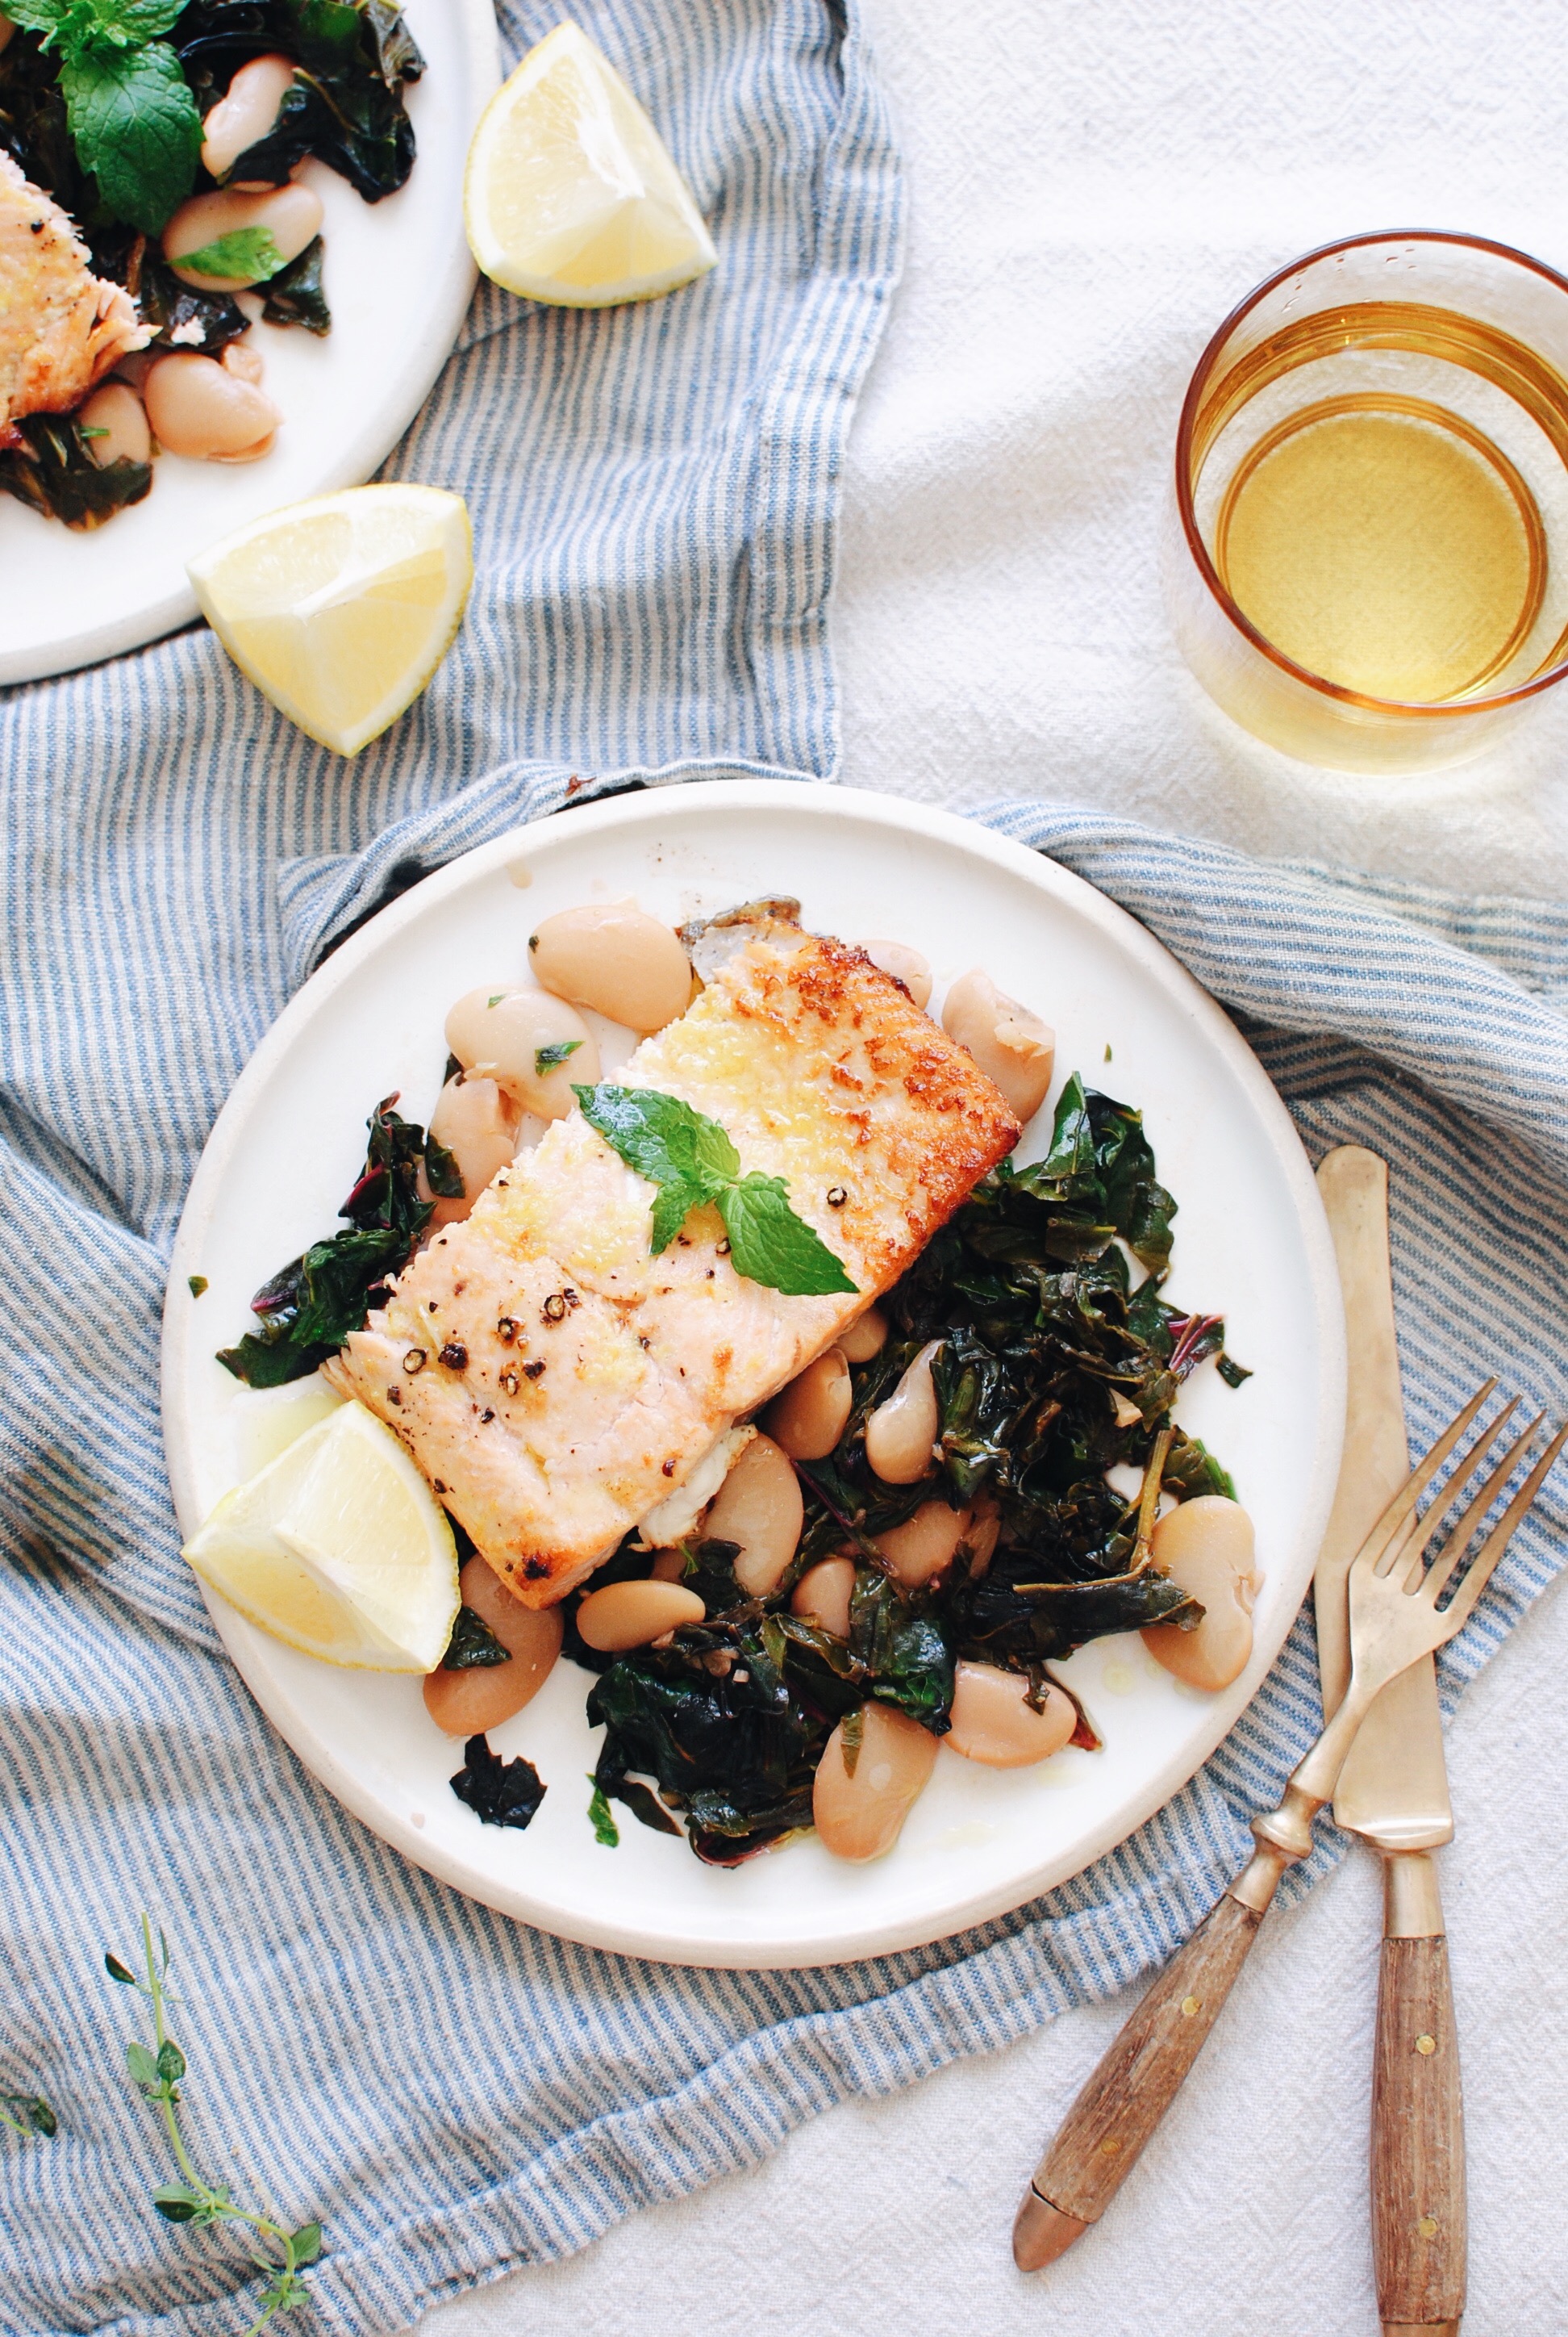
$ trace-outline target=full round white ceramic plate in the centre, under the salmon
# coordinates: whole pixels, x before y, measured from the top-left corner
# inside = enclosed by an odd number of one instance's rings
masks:
[[[213,1129],[168,1281],[164,1426],[187,1533],[320,1402],[241,1388],[213,1348],[250,1325],[250,1292],[334,1222],[376,1098],[400,1089],[414,1117],[428,1115],[446,1005],[523,977],[528,932],[551,909],[631,893],[673,923],[759,890],[799,893],[818,930],[914,942],[932,958],[935,1005],[984,963],[1054,1021],[1061,1077],[1082,1068],[1143,1108],[1180,1201],[1171,1295],[1222,1309],[1231,1351],[1255,1372],[1229,1391],[1203,1367],[1180,1421],[1231,1468],[1267,1580],[1253,1664],[1224,1694],[1178,1687],[1136,1634],[1096,1641],[1063,1676],[1103,1753],[993,1771],[942,1750],[881,1863],[851,1867],[806,1839],[729,1872],[631,1818],[617,1851],[594,1842],[598,1732],[575,1664],[493,1732],[549,1788],[519,1835],[481,1825],[449,1790],[460,1748],[428,1720],[418,1680],[332,1671],[208,1601],[299,1757],[404,1856],[570,1940],[713,1965],[914,1947],[1021,1905],[1122,1842],[1208,1757],[1274,1662],[1311,1577],[1344,1421],[1318,1190],[1269,1080],[1192,977],[1089,886],[949,813],[839,788],[713,783],[589,804],[456,860],[346,942],[278,1019]],[[1035,1147],[1047,1129],[1049,1110]],[[192,1274],[208,1278],[201,1299]]]

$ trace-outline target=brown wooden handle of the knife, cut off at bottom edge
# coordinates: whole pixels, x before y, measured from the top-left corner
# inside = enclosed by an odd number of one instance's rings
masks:
[[[1383,1940],[1372,2066],[1372,2258],[1376,2309],[1390,2337],[1458,2328],[1465,2120],[1442,1933]]]

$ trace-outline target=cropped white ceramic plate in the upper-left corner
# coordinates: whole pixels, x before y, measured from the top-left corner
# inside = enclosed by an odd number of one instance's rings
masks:
[[[266,395],[283,409],[259,463],[159,456],[152,493],[79,535],[0,495],[0,682],[70,673],[138,650],[196,615],[185,563],[220,535],[304,495],[358,486],[388,458],[446,362],[474,290],[463,236],[463,161],[500,58],[491,0],[407,0],[425,77],[409,89],[418,159],[407,187],[362,203],[325,164],[332,332],[255,325]]]

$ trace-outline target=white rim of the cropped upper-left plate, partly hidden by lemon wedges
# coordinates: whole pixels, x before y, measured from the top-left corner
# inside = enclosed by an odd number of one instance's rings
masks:
[[[479,112],[500,86],[500,23],[495,19],[495,7],[493,0],[439,0],[439,5],[453,9],[458,19],[463,63],[477,98],[477,122]],[[311,495],[334,495],[344,486],[362,486],[372,472],[381,470],[430,397],[442,367],[451,358],[456,339],[463,332],[463,318],[474,299],[477,283],[479,269],[474,266],[474,257],[467,250],[467,236],[463,234],[458,238],[458,248],[453,250],[453,264],[449,266],[444,280],[435,287],[435,297],[423,318],[423,330],[411,348],[407,372],[402,374],[402,393],[381,409],[374,425],[367,423],[339,449],[337,460],[327,465],[320,481],[311,488]],[[278,509],[283,509],[283,505],[278,505]],[[168,633],[178,633],[199,617],[201,608],[196,603],[196,594],[192,584],[185,584],[182,591],[164,594],[161,601],[140,603],[140,608],[119,617],[103,617],[98,624],[91,624],[79,633],[70,633],[68,638],[56,636],[54,643],[33,643],[23,650],[7,650],[0,645],[0,689],[9,689],[16,682],[56,680],[63,673],[82,673],[89,666],[100,666],[107,657],[126,657],[131,650],[147,650],[154,640],[166,640]]]

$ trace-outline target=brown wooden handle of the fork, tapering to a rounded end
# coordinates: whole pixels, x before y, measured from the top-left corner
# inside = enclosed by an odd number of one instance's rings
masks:
[[[1098,2222],[1196,2061],[1260,1921],[1255,1907],[1217,1900],[1103,2054],[1024,2192],[1012,2232],[1024,2272]]]

